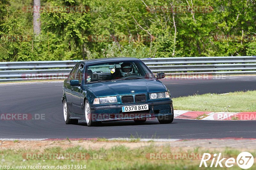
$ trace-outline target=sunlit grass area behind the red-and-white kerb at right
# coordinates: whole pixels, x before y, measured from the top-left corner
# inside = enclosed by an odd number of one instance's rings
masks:
[[[173,98],[176,110],[210,112],[255,112],[256,91],[202,94]]]

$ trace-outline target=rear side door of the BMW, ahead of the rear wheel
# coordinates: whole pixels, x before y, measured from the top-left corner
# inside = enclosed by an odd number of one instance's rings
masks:
[[[76,78],[76,71],[79,67],[80,63],[77,63],[75,67],[72,69],[72,71],[68,75],[68,80],[67,83],[65,84],[65,94],[67,98],[67,104],[68,104],[68,110],[69,112],[74,112],[73,106],[72,106],[72,101],[73,101],[73,94],[72,94],[72,88],[73,86],[70,85],[70,80],[75,80]]]

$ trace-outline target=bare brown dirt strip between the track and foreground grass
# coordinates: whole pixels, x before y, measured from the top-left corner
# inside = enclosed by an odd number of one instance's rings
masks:
[[[97,141],[97,140],[43,140],[43,141],[0,141],[0,150],[38,150],[44,151],[46,148],[61,147],[68,149],[71,147],[81,146],[85,149],[98,150],[100,148],[109,149],[114,146],[124,145],[130,149],[139,147],[152,146],[161,148],[163,146],[170,146],[172,148],[182,148],[188,150],[189,148],[205,148],[216,150],[218,148],[239,148],[239,150],[256,149],[256,140],[252,139],[196,139],[196,140],[180,140],[176,142],[131,142],[131,141]]]

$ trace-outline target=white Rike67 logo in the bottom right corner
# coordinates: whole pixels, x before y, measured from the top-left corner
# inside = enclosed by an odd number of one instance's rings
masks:
[[[248,169],[248,168],[252,167],[252,165],[254,163],[254,158],[253,158],[252,154],[249,152],[240,153],[236,159],[235,158],[220,159],[220,158],[221,158],[221,153],[219,153],[219,154],[214,153],[212,158],[211,158],[210,153],[204,153],[199,167],[202,167],[202,166],[208,167],[206,162],[210,159],[212,159],[212,162],[209,167],[218,167],[218,166],[223,167],[222,164],[224,164],[226,167],[230,168],[230,167],[234,166],[234,164],[236,163],[240,168]],[[216,160],[216,162],[215,162],[215,160]]]

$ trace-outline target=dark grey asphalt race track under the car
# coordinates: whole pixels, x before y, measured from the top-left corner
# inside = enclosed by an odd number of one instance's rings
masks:
[[[256,90],[256,76],[206,80],[163,80],[172,97]],[[0,85],[0,114],[45,114],[45,120],[0,120],[0,138],[256,138],[255,121],[156,120],[104,122],[101,127],[66,125],[62,111],[62,82]],[[174,100],[175,107],[175,100]]]

